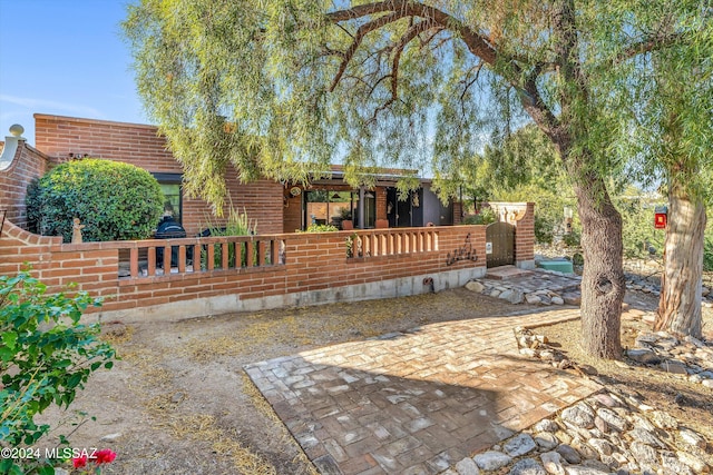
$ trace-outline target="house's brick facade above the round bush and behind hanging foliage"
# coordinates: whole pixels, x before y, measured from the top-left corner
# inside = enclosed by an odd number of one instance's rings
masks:
[[[155,126],[36,113],[35,135],[37,148],[52,162],[66,161],[71,154],[124,161],[150,172],[182,172],[180,164],[166,149],[166,139],[158,135]],[[215,217],[206,201],[184,195],[182,218],[189,236],[208,224],[224,226],[231,204],[257,220],[258,232],[283,231],[282,185],[272,180],[241,184],[237,172],[231,168],[226,186],[229,198],[226,198],[223,218]]]

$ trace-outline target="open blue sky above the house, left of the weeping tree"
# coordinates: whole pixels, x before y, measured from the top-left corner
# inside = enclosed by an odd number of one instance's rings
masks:
[[[131,0],[0,0],[0,140],[36,112],[148,123],[119,23]]]

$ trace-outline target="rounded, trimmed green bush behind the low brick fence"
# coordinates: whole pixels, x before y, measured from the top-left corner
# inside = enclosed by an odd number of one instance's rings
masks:
[[[146,170],[110,160],[84,159],[52,168],[28,187],[30,226],[71,240],[72,218],[85,241],[145,239],[163,211],[158,181]]]

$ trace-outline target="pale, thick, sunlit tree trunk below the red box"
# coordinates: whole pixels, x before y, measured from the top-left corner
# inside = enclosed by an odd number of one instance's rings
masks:
[[[654,330],[702,336],[701,298],[705,207],[681,184],[668,192],[664,273]]]

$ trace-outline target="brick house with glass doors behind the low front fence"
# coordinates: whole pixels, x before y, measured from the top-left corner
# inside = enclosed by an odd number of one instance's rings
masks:
[[[8,137],[8,147],[4,147],[8,150],[3,151],[2,162],[7,164],[0,174],[0,210],[7,210],[13,224],[27,228],[25,190],[31,179],[53,165],[84,157],[124,161],[149,171],[160,184],[166,200],[177,210],[188,235],[199,232],[208,224],[224,224],[206,201],[182,192],[182,167],[155,126],[43,113],[36,113],[35,122],[36,147]],[[10,155],[13,159],[6,157]],[[236,175],[226,177],[227,202],[241,211],[245,209],[247,216],[257,221],[260,234],[294,232],[310,224],[341,227],[343,220],[351,220],[354,228],[363,229],[460,221],[459,204],[442,206],[428,180],[422,180],[421,188],[412,191],[407,200],[398,200],[398,170],[384,170],[375,177],[373,189],[352,189],[342,180],[339,167],[334,167],[331,179],[314,181],[307,188],[268,179],[241,184]]]

